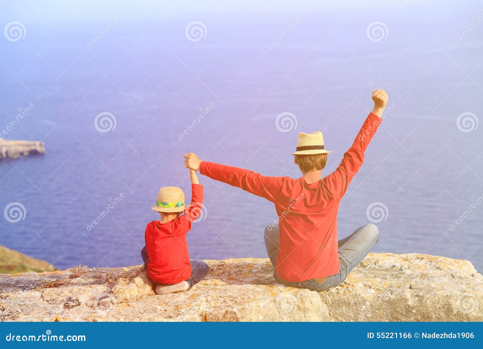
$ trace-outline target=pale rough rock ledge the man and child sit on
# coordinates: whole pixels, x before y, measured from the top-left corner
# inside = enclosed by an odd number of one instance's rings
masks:
[[[277,284],[268,259],[206,263],[199,284],[166,295],[143,266],[2,275],[0,320],[483,321],[483,277],[469,261],[370,253],[321,293]]]

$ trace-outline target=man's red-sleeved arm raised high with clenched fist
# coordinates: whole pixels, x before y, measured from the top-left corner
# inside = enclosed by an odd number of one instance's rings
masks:
[[[352,178],[362,166],[364,152],[382,122],[381,116],[386,107],[387,99],[387,93],[384,90],[372,92],[372,100],[374,101],[372,112],[364,121],[354,143],[344,154],[339,167],[325,178],[334,196],[341,198],[345,194]]]

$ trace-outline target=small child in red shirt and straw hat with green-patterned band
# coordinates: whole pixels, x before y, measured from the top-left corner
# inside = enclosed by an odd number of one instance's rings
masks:
[[[141,250],[149,278],[156,284],[157,294],[187,291],[203,279],[208,265],[189,259],[186,233],[199,217],[203,202],[203,186],[196,171],[190,170],[191,204],[185,206],[185,194],[178,187],[163,187],[157,193],[156,205],[161,219],[146,226],[146,246]],[[181,214],[185,211],[185,214]]]

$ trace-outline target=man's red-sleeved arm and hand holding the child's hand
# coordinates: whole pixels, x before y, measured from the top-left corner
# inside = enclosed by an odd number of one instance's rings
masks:
[[[253,171],[201,161],[196,154],[185,154],[185,167],[199,170],[205,176],[239,187],[249,193],[274,201],[282,190],[284,177],[266,177]]]

